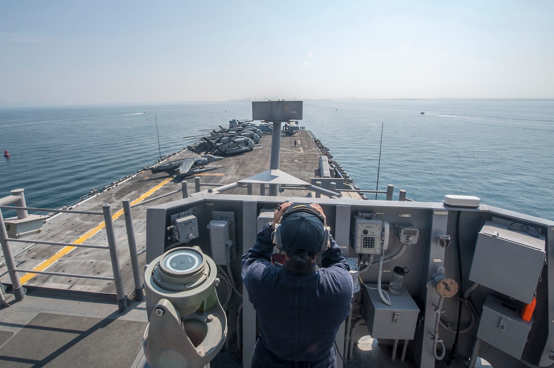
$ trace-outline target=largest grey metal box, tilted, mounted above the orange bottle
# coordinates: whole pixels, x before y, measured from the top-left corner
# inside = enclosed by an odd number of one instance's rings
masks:
[[[545,263],[545,247],[545,236],[535,227],[487,221],[477,236],[469,279],[530,303]]]

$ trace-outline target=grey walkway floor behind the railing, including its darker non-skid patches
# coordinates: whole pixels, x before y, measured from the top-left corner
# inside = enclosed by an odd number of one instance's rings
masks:
[[[30,289],[0,307],[0,367],[145,367],[145,302]]]

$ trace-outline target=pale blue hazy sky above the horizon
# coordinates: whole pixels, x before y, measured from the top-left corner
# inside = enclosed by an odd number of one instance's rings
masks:
[[[554,1],[0,2],[0,106],[554,98]]]

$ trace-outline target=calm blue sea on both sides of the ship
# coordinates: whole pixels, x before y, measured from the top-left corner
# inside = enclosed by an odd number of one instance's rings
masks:
[[[245,101],[0,108],[0,148],[11,153],[0,157],[0,196],[24,188],[28,206],[60,208],[251,116]],[[399,189],[418,201],[475,195],[554,220],[553,100],[304,101],[301,125],[362,189],[378,178],[395,199]]]

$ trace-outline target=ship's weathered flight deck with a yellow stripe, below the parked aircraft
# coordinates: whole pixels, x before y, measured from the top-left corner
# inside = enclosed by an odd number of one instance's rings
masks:
[[[264,135],[252,151],[225,156],[223,160],[217,162],[219,168],[196,174],[194,177],[173,178],[164,172],[152,174],[150,170],[144,169],[122,182],[109,186],[102,193],[72,206],[69,210],[102,212],[102,205],[110,204],[112,218],[114,219],[115,241],[122,268],[121,275],[124,290],[127,294],[133,290],[133,279],[131,272],[124,271],[124,268],[130,264],[130,256],[127,247],[122,201],[129,199],[132,206],[136,249],[140,253],[140,266],[143,267],[145,265],[144,250],[146,249],[146,208],[148,206],[183,198],[183,180],[187,181],[188,192],[193,194],[196,191],[195,177],[197,178],[196,181],[200,182],[200,190],[209,190],[263,172],[270,167],[270,148],[271,136]],[[311,139],[308,131],[300,131],[295,136],[284,135],[281,137],[280,165],[284,172],[295,173],[297,178],[310,182],[310,179],[315,175],[316,168],[319,167],[321,156],[320,150]],[[198,155],[184,149],[171,155],[164,162],[178,161],[188,157],[198,157]],[[176,191],[177,193],[171,194]],[[247,194],[247,191],[248,189],[244,186],[232,189],[227,194]],[[301,195],[315,196],[315,193],[306,193],[305,190],[303,192]],[[280,192],[282,195],[298,195],[299,193],[300,190],[292,188]],[[259,194],[258,189],[256,194]],[[350,198],[362,199],[360,194],[357,193],[345,191],[344,195]],[[161,198],[148,201],[157,197]],[[148,202],[145,203],[146,201]],[[28,205],[32,206],[32,204]],[[103,221],[100,215],[60,212],[60,214],[53,216],[44,223],[39,234],[29,235],[25,237],[25,240],[106,245]],[[48,269],[49,272],[65,272],[68,274],[80,274],[85,273],[85,270],[89,270],[91,274],[106,277],[112,274],[110,255],[106,250],[42,244],[29,245],[28,243],[16,242],[12,242],[12,248],[14,255],[17,255],[16,262],[21,265],[20,268],[36,268],[39,271]],[[4,265],[3,262],[2,265]],[[10,284],[5,267],[2,269],[4,272],[1,281]],[[24,286],[27,287],[52,287],[98,293],[115,292],[112,281],[32,273],[22,274],[20,277]]]

